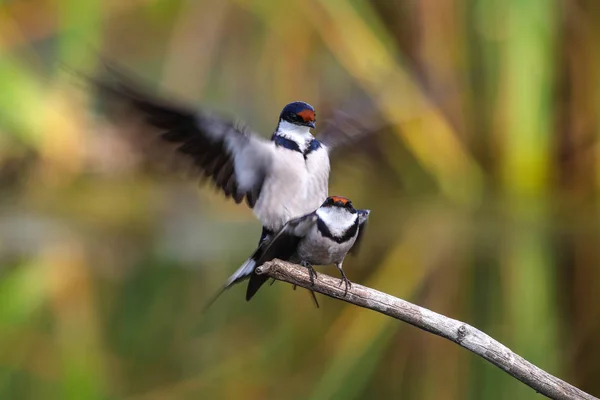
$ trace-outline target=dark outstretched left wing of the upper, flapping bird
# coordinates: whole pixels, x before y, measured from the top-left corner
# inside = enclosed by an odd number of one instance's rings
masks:
[[[246,198],[254,207],[271,160],[268,141],[216,115],[194,112],[144,93],[141,85],[112,66],[105,75],[92,82],[101,99],[109,103],[109,117],[141,124],[136,125],[134,146],[152,143],[156,147],[158,138],[160,150],[152,153],[158,160],[169,153],[167,144],[175,145],[175,153],[210,177],[225,196],[236,203]]]

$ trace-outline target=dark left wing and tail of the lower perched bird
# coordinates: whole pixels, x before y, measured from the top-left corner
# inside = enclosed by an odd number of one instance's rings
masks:
[[[250,282],[248,282],[246,300],[250,300],[263,283],[269,279],[264,275],[255,274],[256,267],[274,258],[288,260],[295,253],[302,237],[308,233],[316,221],[317,214],[315,212],[293,219],[285,224],[273,238],[263,241],[250,258],[227,279],[225,285],[212,297],[206,308],[210,307],[225,290],[248,277],[250,277]]]

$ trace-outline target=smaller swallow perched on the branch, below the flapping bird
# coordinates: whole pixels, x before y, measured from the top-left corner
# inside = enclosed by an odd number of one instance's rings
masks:
[[[250,258],[213,296],[209,305],[226,289],[246,279],[249,279],[246,300],[250,301],[268,280],[267,276],[256,274],[256,268],[275,258],[306,267],[313,285],[317,278],[313,265],[335,264],[342,277],[340,285],[345,284],[347,293],[352,283],[344,273],[342,264],[348,252],[357,249],[370,213],[370,210],[355,209],[346,197],[327,197],[317,210],[288,221],[275,235],[260,243]]]

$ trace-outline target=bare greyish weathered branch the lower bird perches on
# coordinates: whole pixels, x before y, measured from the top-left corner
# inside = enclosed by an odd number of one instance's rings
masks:
[[[536,392],[552,399],[598,400],[536,367],[502,343],[464,322],[356,283],[353,283],[347,295],[344,295],[345,288],[343,284],[340,284],[341,280],[322,273],[318,275],[314,285],[311,285],[306,268],[280,260],[265,263],[257,268],[256,272],[380,312],[451,340],[485,358]]]

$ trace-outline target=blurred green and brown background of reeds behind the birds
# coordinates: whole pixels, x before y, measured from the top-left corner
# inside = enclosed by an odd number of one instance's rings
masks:
[[[331,176],[373,211],[349,278],[600,395],[598,43],[597,0],[0,2],[0,397],[539,398],[286,284],[203,314],[260,225],[142,167],[65,73],[98,54],[264,136],[290,101],[322,128],[371,99],[387,128]]]

